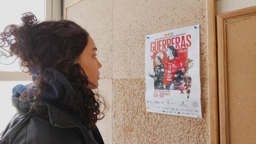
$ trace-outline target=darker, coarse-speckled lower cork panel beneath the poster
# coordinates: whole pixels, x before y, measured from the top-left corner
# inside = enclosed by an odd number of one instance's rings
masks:
[[[145,107],[145,79],[113,79],[113,143],[209,143],[207,118],[149,113]]]

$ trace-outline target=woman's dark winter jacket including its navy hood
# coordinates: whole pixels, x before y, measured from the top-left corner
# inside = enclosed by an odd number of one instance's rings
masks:
[[[57,79],[53,81],[52,75],[49,75],[46,81],[52,89],[42,91],[41,95],[47,99],[58,100],[58,97],[73,91],[67,79],[58,71]],[[33,84],[18,85],[13,89],[12,104],[17,109],[17,114],[1,133],[0,144],[103,143],[97,127],[86,128],[76,117],[66,111],[49,103],[35,105],[27,100],[19,100],[20,94],[28,86],[33,87]]]

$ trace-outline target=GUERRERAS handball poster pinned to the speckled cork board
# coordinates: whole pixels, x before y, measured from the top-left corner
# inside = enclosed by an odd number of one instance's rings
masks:
[[[145,39],[146,110],[202,118],[199,25]]]

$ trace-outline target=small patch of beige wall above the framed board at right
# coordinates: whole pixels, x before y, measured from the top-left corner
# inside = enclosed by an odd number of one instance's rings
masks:
[[[255,6],[256,0],[217,0],[217,14]]]

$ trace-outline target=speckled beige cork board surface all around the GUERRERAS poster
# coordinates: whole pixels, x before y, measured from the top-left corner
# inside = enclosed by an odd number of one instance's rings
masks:
[[[84,0],[68,8],[67,19],[88,30],[99,47],[99,91],[110,104],[98,123],[106,143],[209,143],[205,3]],[[201,28],[203,118],[146,112],[145,36],[196,24]]]

